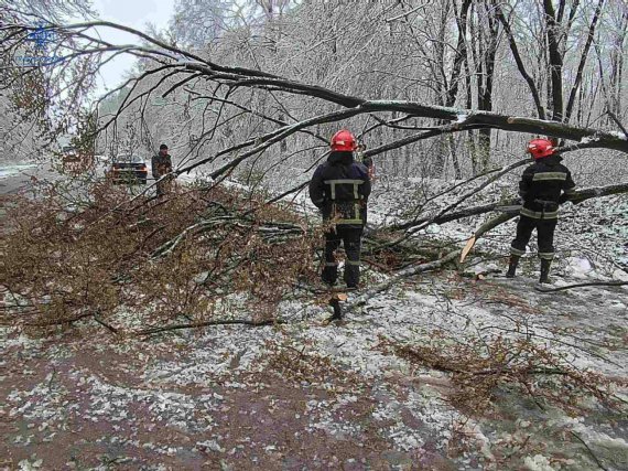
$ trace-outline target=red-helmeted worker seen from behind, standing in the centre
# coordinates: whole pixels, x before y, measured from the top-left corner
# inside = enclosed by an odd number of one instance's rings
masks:
[[[335,250],[344,243],[347,261],[344,279],[348,288],[357,288],[360,279],[360,239],[367,218],[370,181],[367,168],[354,160],[356,138],[343,129],[332,138],[332,152],[314,172],[310,199],[323,213],[325,232],[325,268],[322,279],[335,285],[338,263]]]

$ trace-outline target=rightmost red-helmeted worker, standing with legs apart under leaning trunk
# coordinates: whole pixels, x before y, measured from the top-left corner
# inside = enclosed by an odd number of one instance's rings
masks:
[[[550,266],[554,258],[554,229],[559,221],[559,205],[574,192],[575,183],[569,169],[561,164],[554,154],[554,147],[548,139],[533,139],[528,144],[534,164],[523,171],[519,183],[519,194],[523,200],[517,237],[510,246],[510,264],[506,276],[513,278],[519,258],[526,254],[526,246],[532,231],[537,229],[541,278],[539,282],[550,282]]]

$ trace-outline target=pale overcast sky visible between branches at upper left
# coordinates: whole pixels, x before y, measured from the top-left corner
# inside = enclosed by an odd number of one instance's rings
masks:
[[[124,24],[140,31],[147,31],[147,24],[153,23],[159,30],[167,26],[174,11],[174,0],[93,0],[100,19]],[[100,36],[113,44],[139,44],[129,33],[110,28],[99,28]],[[122,82],[124,72],[133,65],[133,56],[121,55],[100,69],[98,93],[115,88]]]

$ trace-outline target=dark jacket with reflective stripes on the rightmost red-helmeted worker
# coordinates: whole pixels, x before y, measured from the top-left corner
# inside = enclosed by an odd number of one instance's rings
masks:
[[[559,204],[574,192],[575,183],[570,170],[559,156],[538,159],[528,167],[519,182],[523,199],[521,215],[533,218],[556,218]]]

